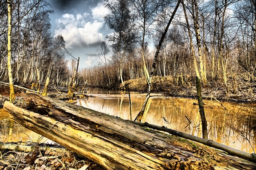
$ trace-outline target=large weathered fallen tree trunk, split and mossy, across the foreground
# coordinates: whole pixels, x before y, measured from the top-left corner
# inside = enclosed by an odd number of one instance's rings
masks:
[[[253,162],[88,108],[29,92],[26,100],[26,110],[4,104],[16,123],[106,169],[256,169]]]

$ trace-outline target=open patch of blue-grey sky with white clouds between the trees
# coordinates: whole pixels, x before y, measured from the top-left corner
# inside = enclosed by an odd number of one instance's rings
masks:
[[[105,25],[102,16],[109,13],[102,0],[48,0],[54,10],[51,14],[51,32],[61,34],[66,48],[74,57],[80,57],[80,68],[97,64],[101,56],[100,44],[112,31]],[[110,48],[109,48],[110,50]],[[110,52],[109,54],[110,55]],[[66,59],[70,59],[67,56]]]

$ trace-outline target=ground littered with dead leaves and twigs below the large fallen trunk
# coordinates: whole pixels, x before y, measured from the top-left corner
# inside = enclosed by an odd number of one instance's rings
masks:
[[[9,145],[18,144],[11,142]],[[23,169],[23,170],[52,170],[52,169],[69,169],[69,170],[104,170],[102,166],[93,161],[82,157],[72,151],[58,152],[57,149],[65,149],[59,144],[28,144],[35,146],[34,152],[22,152],[13,149],[2,149],[0,145],[0,170]],[[40,147],[46,147],[48,150],[41,150]],[[50,151],[49,148],[56,151]],[[2,164],[2,165],[1,165]]]

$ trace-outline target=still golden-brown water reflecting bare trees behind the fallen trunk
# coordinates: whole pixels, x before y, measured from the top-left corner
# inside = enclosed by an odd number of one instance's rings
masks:
[[[125,92],[101,92],[88,94],[92,97],[80,100],[76,104],[102,113],[118,116],[122,119],[136,117],[145,100],[146,94],[131,93],[131,114],[129,96]],[[201,120],[195,99],[169,98],[162,94],[152,94],[146,106],[142,122],[166,126],[181,132],[202,137]],[[227,146],[256,152],[256,108],[249,105],[238,105],[204,100],[207,119],[208,138]],[[165,118],[165,120],[163,119]],[[186,118],[187,117],[187,118]],[[189,121],[191,123],[189,123]],[[0,140],[37,142],[40,135],[8,119],[0,110]],[[44,138],[41,142],[51,142]]]

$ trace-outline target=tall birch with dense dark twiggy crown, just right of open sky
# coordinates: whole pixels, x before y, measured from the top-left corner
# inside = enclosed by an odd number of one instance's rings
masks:
[[[111,2],[107,0],[105,7],[111,11],[111,14],[104,16],[104,20],[109,28],[113,30],[113,34],[106,38],[113,42],[111,45],[112,50],[118,54],[120,61],[119,74],[123,88],[125,89],[123,63],[129,51],[130,44],[134,43],[135,40],[135,16],[131,13],[127,0],[115,0]]]

